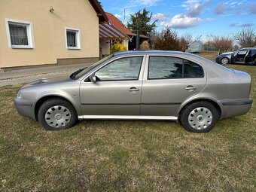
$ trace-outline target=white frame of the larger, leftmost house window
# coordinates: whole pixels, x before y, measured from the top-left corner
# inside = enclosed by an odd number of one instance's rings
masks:
[[[11,44],[11,34],[10,34],[9,24],[14,24],[17,26],[26,26],[26,35],[28,38],[28,45]],[[5,18],[5,29],[6,29],[6,33],[7,33],[9,48],[12,48],[12,49],[33,49],[33,48],[35,48],[32,22],[26,21],[26,20],[14,20],[14,19]]]

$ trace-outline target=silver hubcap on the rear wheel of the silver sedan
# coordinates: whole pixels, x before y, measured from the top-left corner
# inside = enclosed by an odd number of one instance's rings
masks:
[[[204,130],[212,123],[212,112],[208,108],[195,108],[188,115],[188,123],[196,130]]]

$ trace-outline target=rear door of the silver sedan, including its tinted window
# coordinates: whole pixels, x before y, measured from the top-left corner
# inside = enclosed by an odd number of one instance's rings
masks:
[[[175,116],[188,97],[206,85],[203,67],[177,56],[148,56],[142,89],[142,115]]]

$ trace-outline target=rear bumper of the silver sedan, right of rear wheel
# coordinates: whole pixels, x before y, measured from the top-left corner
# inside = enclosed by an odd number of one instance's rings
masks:
[[[221,119],[224,119],[246,114],[251,108],[253,99],[224,99],[219,102],[222,108]]]

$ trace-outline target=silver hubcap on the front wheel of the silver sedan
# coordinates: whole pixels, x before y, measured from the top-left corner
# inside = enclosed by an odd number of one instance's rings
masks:
[[[44,118],[48,125],[54,128],[61,128],[69,123],[71,120],[71,113],[68,108],[56,105],[46,111]]]

